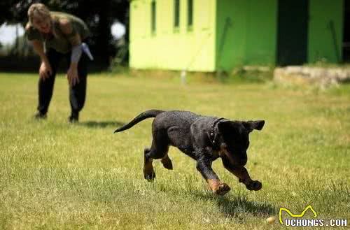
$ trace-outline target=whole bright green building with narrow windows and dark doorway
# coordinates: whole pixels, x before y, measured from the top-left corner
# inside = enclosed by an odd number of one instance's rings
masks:
[[[134,0],[130,67],[230,71],[349,59],[350,0]]]

